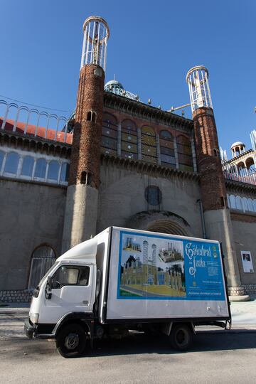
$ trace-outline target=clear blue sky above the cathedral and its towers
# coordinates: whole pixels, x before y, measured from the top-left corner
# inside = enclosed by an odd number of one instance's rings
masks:
[[[251,147],[255,0],[0,0],[0,9],[1,95],[73,110],[82,23],[96,14],[110,26],[106,81],[115,73],[143,102],[167,110],[189,101],[188,69],[206,65],[220,145]]]

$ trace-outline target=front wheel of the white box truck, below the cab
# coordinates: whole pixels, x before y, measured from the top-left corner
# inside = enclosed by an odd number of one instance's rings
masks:
[[[56,337],[58,353],[65,358],[78,357],[85,350],[85,330],[79,324],[68,324]]]

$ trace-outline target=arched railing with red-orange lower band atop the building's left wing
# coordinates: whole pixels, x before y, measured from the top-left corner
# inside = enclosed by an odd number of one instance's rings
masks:
[[[0,131],[17,132],[29,137],[40,137],[54,142],[72,144],[68,132],[68,117],[49,114],[26,105],[18,106],[0,100]]]

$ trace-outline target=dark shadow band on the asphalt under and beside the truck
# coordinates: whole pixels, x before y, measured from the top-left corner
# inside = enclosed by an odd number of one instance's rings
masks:
[[[234,351],[256,348],[256,331],[242,331],[241,333],[225,333],[222,331],[201,331],[193,338],[191,352],[203,351]],[[178,352],[171,349],[168,338],[164,336],[148,336],[133,334],[121,340],[97,340],[91,349],[88,343],[82,358],[95,358],[97,356],[125,356],[157,353],[161,355],[174,355]],[[185,353],[189,353],[185,352]],[[42,355],[49,358],[57,354],[55,341],[28,340],[27,338],[10,339],[2,341],[0,359],[27,358],[40,361]],[[60,357],[61,358],[61,357]]]

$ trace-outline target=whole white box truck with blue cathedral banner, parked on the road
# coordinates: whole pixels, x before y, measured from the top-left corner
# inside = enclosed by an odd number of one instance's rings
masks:
[[[24,331],[64,357],[129,330],[191,346],[195,326],[231,325],[220,243],[110,227],[58,257],[33,291]]]

